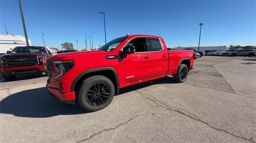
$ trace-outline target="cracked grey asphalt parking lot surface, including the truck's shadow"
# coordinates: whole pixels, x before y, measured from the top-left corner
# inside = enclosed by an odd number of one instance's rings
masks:
[[[0,142],[256,142],[256,57],[204,56],[184,83],[123,88],[92,113],[55,102],[46,79],[1,80]]]

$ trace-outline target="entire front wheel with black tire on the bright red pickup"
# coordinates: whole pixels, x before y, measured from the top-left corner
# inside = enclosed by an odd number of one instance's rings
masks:
[[[106,108],[115,94],[114,84],[105,76],[92,76],[82,82],[78,89],[78,103],[89,112]]]

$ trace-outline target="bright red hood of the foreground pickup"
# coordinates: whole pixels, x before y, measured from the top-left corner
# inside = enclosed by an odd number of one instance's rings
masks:
[[[70,60],[80,56],[88,56],[97,57],[98,55],[102,55],[101,53],[106,53],[106,51],[78,51],[78,52],[70,52],[70,53],[59,53],[56,55],[52,55],[48,58],[47,61],[63,61]]]

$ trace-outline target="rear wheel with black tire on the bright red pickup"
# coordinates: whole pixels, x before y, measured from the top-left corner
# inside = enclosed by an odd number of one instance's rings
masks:
[[[186,78],[188,77],[188,67],[184,64],[180,64],[178,66],[178,71],[175,75],[173,75],[173,78],[176,82],[184,82]]]

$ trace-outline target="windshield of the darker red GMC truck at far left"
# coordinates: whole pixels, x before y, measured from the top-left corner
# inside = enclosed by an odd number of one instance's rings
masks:
[[[16,47],[12,50],[12,53],[46,53],[46,51],[43,47]]]

